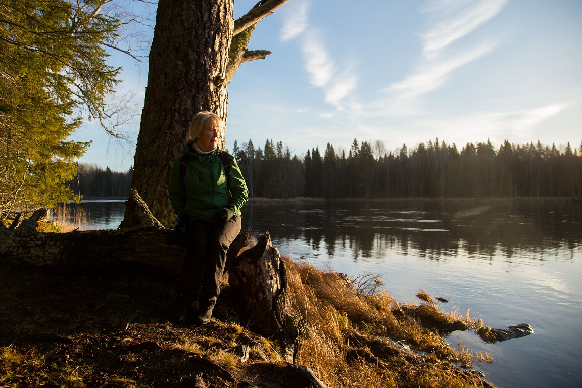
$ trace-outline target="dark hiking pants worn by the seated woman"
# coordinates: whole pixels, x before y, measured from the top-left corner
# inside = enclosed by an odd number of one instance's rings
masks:
[[[203,307],[214,306],[220,294],[220,282],[226,265],[226,251],[240,233],[240,215],[226,222],[190,223],[191,233],[186,245],[186,257],[178,292],[184,302],[191,304],[196,300]]]

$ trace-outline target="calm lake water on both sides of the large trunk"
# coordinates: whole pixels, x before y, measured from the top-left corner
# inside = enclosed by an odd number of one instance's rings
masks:
[[[95,229],[123,202],[83,204]],[[317,202],[247,204],[243,230],[268,230],[282,254],[351,277],[378,273],[396,300],[419,289],[444,311],[468,309],[492,328],[535,333],[496,344],[472,332],[448,341],[492,353],[474,367],[499,388],[582,387],[582,207],[572,202]]]

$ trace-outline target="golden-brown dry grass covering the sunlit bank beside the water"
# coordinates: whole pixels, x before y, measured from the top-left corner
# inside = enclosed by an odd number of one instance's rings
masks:
[[[399,305],[377,290],[381,284],[374,276],[367,277],[367,286],[354,287],[338,273],[285,262],[293,314],[307,333],[299,362],[330,388],[354,382],[364,388],[490,386],[451,363],[466,366],[479,357],[455,351],[439,336],[439,330],[467,329],[458,315],[430,303]],[[357,291],[362,289],[372,292]]]

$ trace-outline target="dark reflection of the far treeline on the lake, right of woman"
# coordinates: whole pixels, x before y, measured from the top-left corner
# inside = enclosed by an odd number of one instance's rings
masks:
[[[298,202],[247,204],[243,228],[276,240],[303,241],[333,257],[354,260],[414,252],[431,260],[451,256],[541,259],[572,251],[582,240],[582,213],[571,202]],[[572,257],[570,257],[572,259]]]

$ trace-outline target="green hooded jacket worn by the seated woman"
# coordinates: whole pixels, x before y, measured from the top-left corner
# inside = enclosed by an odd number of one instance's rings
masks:
[[[180,176],[180,160],[174,161],[170,181],[170,202],[178,217],[189,215],[191,220],[211,221],[223,208],[232,208],[240,214],[240,208],[249,199],[249,191],[244,182],[235,157],[228,154],[230,160],[230,188],[222,166],[218,149],[210,154],[198,154],[184,146],[184,154],[191,156],[184,176]]]

